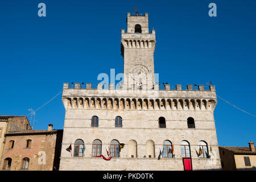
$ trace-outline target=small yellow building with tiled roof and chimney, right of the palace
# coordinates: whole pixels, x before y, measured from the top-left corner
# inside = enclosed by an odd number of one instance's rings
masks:
[[[256,151],[254,142],[249,147],[219,147],[221,167],[224,171],[256,171]]]

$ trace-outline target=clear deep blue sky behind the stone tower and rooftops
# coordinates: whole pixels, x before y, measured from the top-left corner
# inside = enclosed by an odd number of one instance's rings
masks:
[[[38,4],[46,3],[46,17]],[[208,5],[217,5],[217,17]],[[149,15],[156,30],[155,73],[171,85],[212,81],[218,96],[256,114],[256,1],[1,1],[1,115],[27,115],[63,82],[97,84],[99,73],[123,72],[121,29],[127,13]],[[218,98],[220,146],[256,142],[256,118]],[[34,129],[63,129],[61,96],[36,111]]]

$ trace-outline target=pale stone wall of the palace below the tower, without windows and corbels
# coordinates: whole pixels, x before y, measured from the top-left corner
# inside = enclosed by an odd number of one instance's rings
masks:
[[[97,94],[93,94],[93,92]],[[64,89],[63,98],[67,97],[67,95],[80,98],[82,94],[98,97],[102,97],[105,94],[116,97],[125,95],[126,97],[130,95],[133,95],[134,97],[146,96],[146,94],[143,95],[142,93],[141,90]],[[158,94],[164,97],[171,95],[175,96],[175,98],[189,96],[190,98],[207,98],[207,100],[216,99],[215,92],[210,91],[162,90]],[[220,156],[218,152],[213,109],[214,106],[209,110],[196,110],[195,108],[193,108],[193,110],[184,110],[182,108],[178,110],[172,110],[172,108],[171,110],[72,109],[72,107],[66,107],[60,169],[98,170],[104,169],[105,164],[108,164],[108,167],[115,170],[183,170],[180,151],[180,142],[182,140],[187,140],[190,144],[193,169],[220,169]],[[93,115],[97,115],[99,119],[98,127],[90,126]],[[116,128],[114,126],[114,120],[117,116],[122,117],[121,128]],[[164,117],[166,119],[166,128],[159,128],[159,117]],[[196,129],[188,129],[188,117],[195,119]],[[85,143],[86,150],[84,158],[71,158],[71,154],[65,150],[70,143],[72,143],[72,147],[74,147],[76,139],[82,139]],[[103,159],[98,160],[92,158],[92,143],[95,139],[101,140],[102,154],[105,156],[105,147],[108,148],[111,140],[117,139],[119,143],[125,143],[126,145],[122,148],[120,153],[120,159],[115,159],[113,162],[106,163]],[[137,142],[137,159],[129,158],[128,156],[128,143],[130,140],[135,140]],[[147,140],[152,140],[155,143],[155,156],[153,156],[155,159],[143,158],[146,155]],[[162,150],[164,140],[170,140],[174,143],[174,159],[157,160],[159,148]],[[211,155],[211,160],[199,159],[197,157],[196,151],[199,151],[198,143],[200,140],[204,140],[208,143],[209,151],[210,145],[212,146],[215,157]],[[88,160],[92,161],[88,162]],[[114,161],[118,161],[118,164],[115,164]],[[90,165],[92,163],[93,165]]]

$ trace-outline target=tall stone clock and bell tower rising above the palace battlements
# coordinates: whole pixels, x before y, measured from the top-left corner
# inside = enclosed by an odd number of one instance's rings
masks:
[[[123,84],[127,88],[152,89],[155,30],[148,32],[148,14],[127,13],[127,32],[122,30]]]

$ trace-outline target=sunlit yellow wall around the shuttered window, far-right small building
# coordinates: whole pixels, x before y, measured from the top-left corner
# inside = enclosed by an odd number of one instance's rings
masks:
[[[251,166],[245,166],[245,160],[243,159],[244,156],[250,158]],[[256,155],[234,155],[234,159],[236,162],[237,170],[250,168],[254,168],[254,170],[256,170]]]

